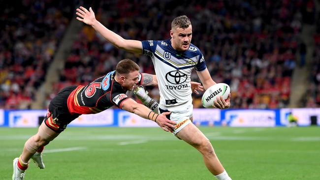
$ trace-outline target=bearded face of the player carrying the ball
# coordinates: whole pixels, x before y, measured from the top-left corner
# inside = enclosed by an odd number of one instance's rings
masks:
[[[187,51],[192,38],[192,26],[170,30],[171,45],[177,51]]]

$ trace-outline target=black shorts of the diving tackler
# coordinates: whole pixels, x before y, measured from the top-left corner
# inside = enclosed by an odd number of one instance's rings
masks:
[[[80,114],[71,115],[67,106],[67,99],[72,90],[77,86],[66,87],[54,97],[48,107],[45,124],[55,132],[62,132],[72,120],[78,118]]]

